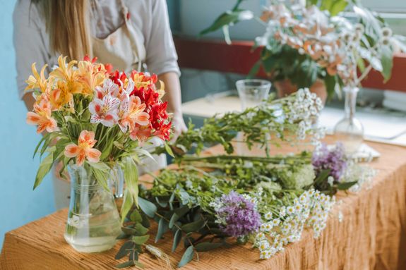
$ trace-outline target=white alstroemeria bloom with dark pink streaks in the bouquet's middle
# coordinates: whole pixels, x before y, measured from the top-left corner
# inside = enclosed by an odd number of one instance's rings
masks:
[[[118,108],[120,100],[112,97],[111,94],[105,95],[103,99],[93,99],[89,104],[89,111],[92,113],[90,123],[102,123],[107,127],[115,125],[119,119]]]

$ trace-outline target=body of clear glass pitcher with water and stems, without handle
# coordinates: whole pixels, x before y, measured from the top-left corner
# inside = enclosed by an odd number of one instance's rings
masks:
[[[85,166],[68,166],[71,202],[65,240],[78,252],[102,252],[114,247],[121,233],[113,193],[102,188]]]

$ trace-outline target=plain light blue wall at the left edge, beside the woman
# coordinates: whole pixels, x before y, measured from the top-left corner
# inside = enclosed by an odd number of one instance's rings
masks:
[[[4,233],[55,210],[51,178],[32,191],[40,164],[32,159],[32,152],[40,135],[25,124],[27,110],[17,94],[12,21],[15,3],[0,0],[0,247]]]

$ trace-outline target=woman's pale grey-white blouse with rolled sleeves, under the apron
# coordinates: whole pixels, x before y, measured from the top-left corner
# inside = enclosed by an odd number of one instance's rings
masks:
[[[90,1],[92,35],[103,39],[124,24],[121,0]],[[123,0],[129,8],[131,23],[143,33],[146,49],[145,63],[151,73],[175,72],[180,75],[177,52],[169,27],[165,0]],[[17,85],[20,97],[24,95],[25,80],[31,74],[31,64],[37,69],[54,66],[57,55],[49,49],[49,36],[44,18],[31,0],[18,0],[13,13],[14,47],[16,49]],[[49,71],[49,70],[48,70]]]

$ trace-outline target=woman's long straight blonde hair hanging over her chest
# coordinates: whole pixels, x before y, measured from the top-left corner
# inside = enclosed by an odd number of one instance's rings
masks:
[[[92,56],[88,0],[33,0],[45,18],[51,53]]]

